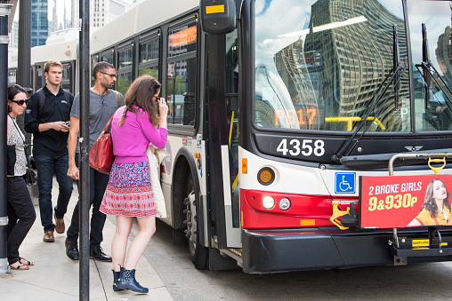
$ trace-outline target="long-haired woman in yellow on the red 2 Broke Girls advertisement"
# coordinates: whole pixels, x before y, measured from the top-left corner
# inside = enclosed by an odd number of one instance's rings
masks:
[[[449,225],[452,213],[448,202],[448,189],[443,181],[434,178],[425,191],[421,212],[408,226]]]

